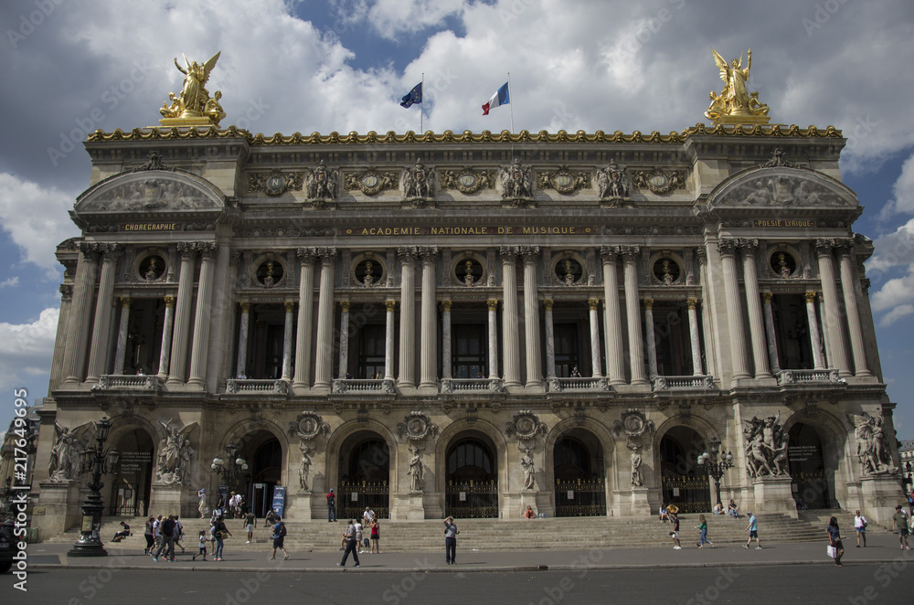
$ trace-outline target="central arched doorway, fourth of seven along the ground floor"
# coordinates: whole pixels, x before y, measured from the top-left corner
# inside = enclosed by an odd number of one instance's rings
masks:
[[[498,516],[498,462],[483,433],[465,432],[448,446],[444,514],[460,518]]]

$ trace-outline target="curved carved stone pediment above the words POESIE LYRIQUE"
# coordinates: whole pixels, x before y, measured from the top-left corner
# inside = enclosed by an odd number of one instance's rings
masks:
[[[856,207],[856,194],[834,178],[805,168],[751,168],[718,185],[708,196],[713,207]]]

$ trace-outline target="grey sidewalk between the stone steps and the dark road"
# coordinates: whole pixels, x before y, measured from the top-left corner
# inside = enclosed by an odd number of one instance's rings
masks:
[[[825,532],[823,531],[823,534]],[[764,536],[762,536],[764,540]],[[728,544],[717,548],[698,549],[694,542],[683,539],[683,549],[669,547],[655,548],[617,548],[593,547],[580,550],[530,550],[530,551],[485,551],[473,552],[462,550],[457,542],[456,566],[444,562],[444,544],[441,540],[439,552],[416,553],[382,553],[379,555],[361,555],[361,567],[352,568],[353,561],[346,562],[349,572],[383,572],[408,573],[420,572],[482,572],[482,571],[578,571],[582,569],[638,569],[638,568],[720,568],[742,566],[773,565],[834,565],[826,557],[825,547],[828,539],[823,536],[821,542],[774,544],[762,541],[762,549],[747,550],[740,545]],[[338,551],[295,552],[290,551],[290,559],[282,560],[282,551],[277,560],[271,561],[272,549],[264,545],[262,551],[233,552],[230,542],[226,543],[225,561],[206,562],[191,561],[191,555],[197,551],[187,548],[186,555],[178,555],[172,563],[160,559],[155,562],[152,557],[143,555],[143,549],[133,545],[142,545],[140,541],[121,547],[118,544],[106,544],[108,557],[67,557],[70,546],[64,544],[33,544],[27,549],[29,568],[121,568],[121,569],[177,569],[186,571],[284,571],[284,572],[327,572],[339,570],[336,564],[343,553]],[[914,551],[900,550],[898,536],[887,534],[868,536],[868,547],[856,548],[856,537],[844,539],[845,557],[842,563],[855,565],[859,563],[884,563],[887,561],[905,560],[914,562]]]

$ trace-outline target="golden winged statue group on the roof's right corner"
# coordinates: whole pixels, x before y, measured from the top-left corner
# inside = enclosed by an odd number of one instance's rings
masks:
[[[759,101],[757,90],[749,92],[752,50],[749,49],[745,68],[742,66],[741,53],[731,64],[714,48],[711,48],[711,53],[717,69],[720,69],[720,80],[724,80],[724,90],[720,94],[711,90],[708,94],[711,104],[705,111],[705,117],[716,124],[767,124],[771,120],[768,117],[768,105]]]

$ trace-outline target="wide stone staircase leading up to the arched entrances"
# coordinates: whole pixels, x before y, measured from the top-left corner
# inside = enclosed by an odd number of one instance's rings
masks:
[[[809,542],[824,540],[825,525],[832,515],[838,517],[846,539],[854,535],[854,515],[846,511],[803,511],[800,519],[787,515],[761,514],[759,534],[762,542]],[[745,542],[748,525],[745,515],[734,519],[728,515],[705,515],[708,536],[716,544]],[[142,548],[143,518],[106,517],[102,522],[101,536],[108,543],[120,529],[120,521],[131,525],[133,536],[122,542],[128,548]],[[680,515],[680,540],[686,546],[698,539],[695,526],[698,515]],[[208,530],[206,519],[182,519],[185,525],[184,544],[188,552],[197,551],[197,535]],[[460,528],[460,547],[476,550],[576,550],[582,547],[666,547],[670,545],[672,525],[661,523],[656,516],[642,518],[575,517],[550,519],[457,519]],[[226,541],[232,550],[262,550],[271,545],[271,530],[258,520],[254,530],[254,543],[245,544],[247,533],[239,519],[227,521],[233,536]],[[333,551],[340,546],[345,532],[345,520],[327,523],[321,520],[290,521],[286,523],[289,550]],[[870,525],[870,532],[884,532],[884,528]],[[73,543],[79,532],[73,528],[60,536],[48,539],[53,543]],[[380,546],[388,552],[429,552],[439,550],[444,543],[444,524],[439,519],[424,521],[380,522]],[[112,545],[113,546],[113,545]]]

